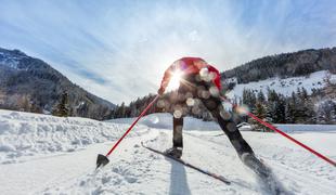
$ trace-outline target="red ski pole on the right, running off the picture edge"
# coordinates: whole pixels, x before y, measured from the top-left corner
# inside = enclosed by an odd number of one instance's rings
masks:
[[[225,99],[224,96],[220,96],[223,101],[230,103],[233,107],[237,107],[236,104],[232,104],[228,99]],[[318,157],[324,159],[325,161],[327,161],[328,164],[333,165],[334,167],[336,167],[336,162],[329,158],[327,158],[326,156],[322,155],[321,153],[318,153],[316,151],[312,150],[311,147],[307,146],[306,144],[297,141],[296,139],[292,138],[290,135],[288,135],[287,133],[283,132],[282,130],[277,129],[276,127],[272,126],[271,123],[263,121],[262,119],[258,118],[256,115],[249,113],[248,110],[244,109],[244,112],[251,117],[253,119],[257,120],[259,123],[263,125],[264,127],[270,128],[271,130],[280,133],[281,135],[285,136],[286,139],[293,141],[294,143],[300,145],[301,147],[306,148],[307,151],[309,151],[310,153],[316,155]]]

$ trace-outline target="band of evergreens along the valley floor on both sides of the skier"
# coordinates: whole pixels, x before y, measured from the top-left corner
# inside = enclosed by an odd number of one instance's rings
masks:
[[[175,92],[166,93],[146,113],[173,113],[170,99]],[[319,93],[314,91],[313,93]],[[139,98],[129,105],[121,103],[112,113],[112,118],[138,117],[141,112],[155,99],[156,94]],[[298,88],[290,96],[285,96],[274,90],[253,91],[245,89],[243,96],[235,100],[238,105],[246,105],[251,113],[271,123],[336,123],[336,103],[326,100],[314,104],[313,95],[308,95],[305,88]],[[201,104],[198,112],[190,112],[190,116],[203,120],[212,120],[211,115]],[[234,115],[235,120],[255,123],[247,116]],[[259,129],[267,130],[261,126]]]

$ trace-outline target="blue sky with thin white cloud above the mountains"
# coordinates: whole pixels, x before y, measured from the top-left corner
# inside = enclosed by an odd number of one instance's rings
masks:
[[[1,48],[40,57],[117,104],[155,93],[182,56],[225,70],[335,46],[333,0],[0,0]]]

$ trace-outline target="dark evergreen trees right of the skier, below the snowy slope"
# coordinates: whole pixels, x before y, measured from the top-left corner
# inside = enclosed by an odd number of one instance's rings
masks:
[[[326,100],[315,105],[313,96],[305,88],[298,88],[290,96],[270,89],[267,94],[245,89],[240,104],[272,123],[336,123],[336,103]]]

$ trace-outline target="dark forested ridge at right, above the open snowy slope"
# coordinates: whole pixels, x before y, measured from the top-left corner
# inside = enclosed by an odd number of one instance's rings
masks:
[[[221,75],[227,79],[236,77],[238,83],[248,83],[273,77],[307,76],[320,70],[336,74],[336,48],[264,56],[225,70]]]

